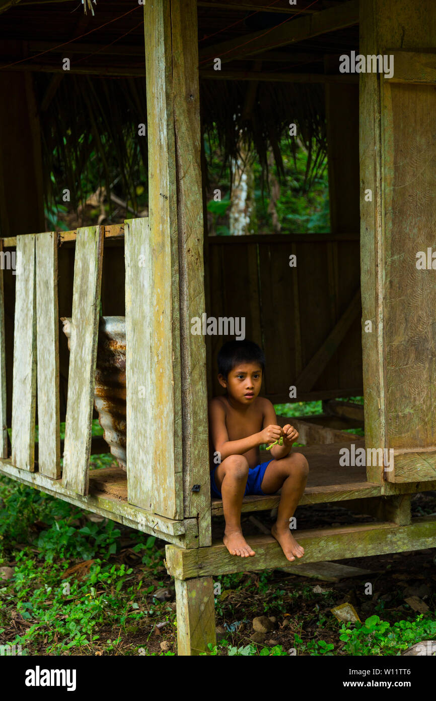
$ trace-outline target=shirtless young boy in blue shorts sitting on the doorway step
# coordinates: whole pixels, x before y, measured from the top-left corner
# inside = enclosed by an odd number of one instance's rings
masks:
[[[281,488],[271,532],[292,562],[304,554],[289,522],[304,492],[309,466],[302,454],[291,452],[298,438],[295,428],[277,426],[272,403],[258,396],[264,370],[264,355],[253,341],[228,341],[218,353],[218,381],[227,394],[209,404],[212,454],[220,459],[211,472],[211,492],[223,499],[224,545],[232,555],[250,557],[255,552],[242,535],[242,499],[248,494],[274,494]],[[260,464],[260,444],[274,443],[281,436],[283,445],[274,445],[271,458]]]

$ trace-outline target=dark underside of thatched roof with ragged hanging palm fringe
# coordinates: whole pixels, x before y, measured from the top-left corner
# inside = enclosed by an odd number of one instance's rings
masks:
[[[280,171],[279,143],[288,135],[290,123],[296,123],[300,139],[311,150],[311,168],[316,170],[326,149],[322,82],[216,81],[211,79],[210,71],[207,75],[208,66],[202,59],[209,46],[216,48],[218,42],[234,41],[235,37],[244,43],[244,37],[259,28],[275,27],[292,17],[247,13],[232,8],[233,0],[229,0],[228,8],[220,3],[214,11],[207,6],[208,1],[213,5],[214,0],[199,1],[198,10],[203,131],[216,130],[227,158],[237,156],[242,135],[255,149],[264,169],[272,148]],[[146,137],[138,135],[139,123],[146,122],[142,10],[141,6],[139,10],[127,7],[120,0],[86,3],[86,15],[77,0],[50,4],[29,4],[26,0],[22,6],[18,2],[8,8],[0,15],[0,39],[26,41],[28,57],[16,64],[11,53],[12,60],[3,61],[3,66],[15,63],[9,69],[28,67],[33,71],[40,107],[46,198],[50,199],[54,188],[59,190],[62,181],[78,203],[89,194],[83,192],[83,182],[86,172],[92,172],[106,188],[118,177],[125,197],[134,202],[134,184],[147,172]],[[254,4],[259,6],[259,0]],[[271,4],[268,1],[265,5]],[[289,8],[284,0],[277,0],[275,5],[276,9]],[[321,1],[319,5],[322,7]],[[356,42],[356,27],[349,27],[330,32],[328,38],[316,36],[278,50],[237,57],[227,62],[225,69],[238,75],[252,71],[257,60],[261,63],[256,69],[261,66],[265,72],[323,74],[326,53],[356,48]],[[64,56],[71,57],[69,72],[59,72]],[[97,157],[90,161],[93,152]],[[51,172],[55,183],[50,179]]]

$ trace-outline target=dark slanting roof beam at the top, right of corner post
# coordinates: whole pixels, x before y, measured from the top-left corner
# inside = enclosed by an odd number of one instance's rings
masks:
[[[290,18],[292,20],[292,17]],[[307,41],[313,36],[335,32],[357,25],[359,21],[359,1],[346,3],[323,10],[308,17],[285,22],[273,29],[237,36],[213,46],[206,46],[200,54],[200,65],[211,64],[215,58],[228,62],[243,56],[261,53],[267,49],[287,46],[297,41]]]

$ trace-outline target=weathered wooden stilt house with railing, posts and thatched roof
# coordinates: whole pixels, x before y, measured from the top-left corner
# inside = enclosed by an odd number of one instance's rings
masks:
[[[305,562],[436,545],[436,517],[412,519],[410,510],[413,494],[436,487],[436,6],[92,6],[94,18],[80,8],[71,24],[69,1],[0,0],[0,472],[167,541],[179,654],[198,654],[215,639],[213,576],[288,562],[269,536],[254,539],[256,556],[245,560],[211,539],[222,504],[210,496],[206,404],[223,339],[192,334],[194,317],[246,318],[246,336],[265,348],[273,402],[288,401],[291,385],[297,400],[365,397],[365,443],[302,449],[311,472],[301,503],[340,501],[377,520],[300,531]],[[339,56],[353,51],[392,57],[393,73],[377,60],[365,72],[350,60],[340,72]],[[91,75],[140,84],[136,97],[146,86],[148,217],[45,231],[43,127],[55,123],[59,91],[75,104]],[[321,90],[331,233],[204,235],[200,103],[232,86],[248,114],[267,109],[258,105],[262,86]],[[118,100],[112,109],[122,113]],[[283,303],[288,318],[276,314]],[[117,372],[105,375],[109,351]],[[91,435],[98,383],[112,417],[104,448]],[[120,466],[90,470],[90,454],[108,451],[118,434]],[[340,464],[343,448],[360,447],[371,464]],[[248,497],[243,509],[278,501]]]

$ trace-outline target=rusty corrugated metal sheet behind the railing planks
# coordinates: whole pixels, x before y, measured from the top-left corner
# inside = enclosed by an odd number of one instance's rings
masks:
[[[62,318],[70,348],[71,319]],[[120,468],[126,463],[126,331],[124,316],[104,316],[99,323],[94,406],[104,440]]]

